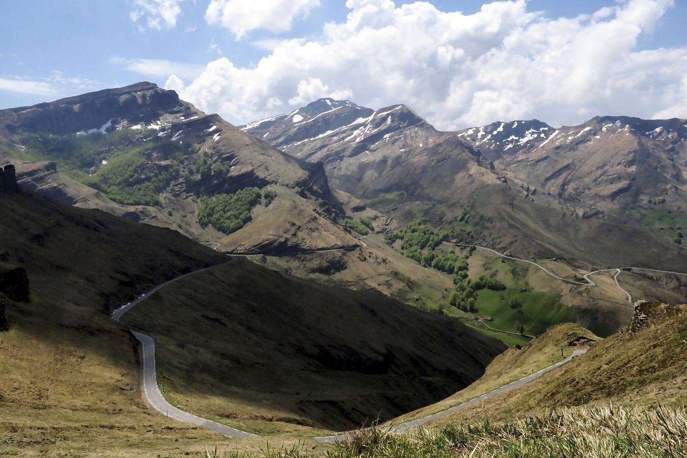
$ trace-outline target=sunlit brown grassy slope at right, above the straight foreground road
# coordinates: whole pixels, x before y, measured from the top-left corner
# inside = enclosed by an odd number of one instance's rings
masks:
[[[637,319],[638,314],[648,316]],[[622,404],[681,404],[687,400],[687,306],[644,304],[622,334],[613,334],[587,354],[534,382],[480,407],[449,415],[439,424],[488,415],[496,420],[543,409],[576,407],[613,400]]]

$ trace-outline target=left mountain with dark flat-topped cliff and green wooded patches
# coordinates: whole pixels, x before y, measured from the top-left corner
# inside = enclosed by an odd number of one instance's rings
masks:
[[[232,251],[357,245],[339,222],[343,209],[321,164],[294,159],[148,82],[0,111],[0,163],[10,159],[29,189]],[[227,208],[227,194],[251,187],[258,194]],[[205,220],[204,196],[212,203]],[[223,231],[207,224],[218,213],[228,218]]]

